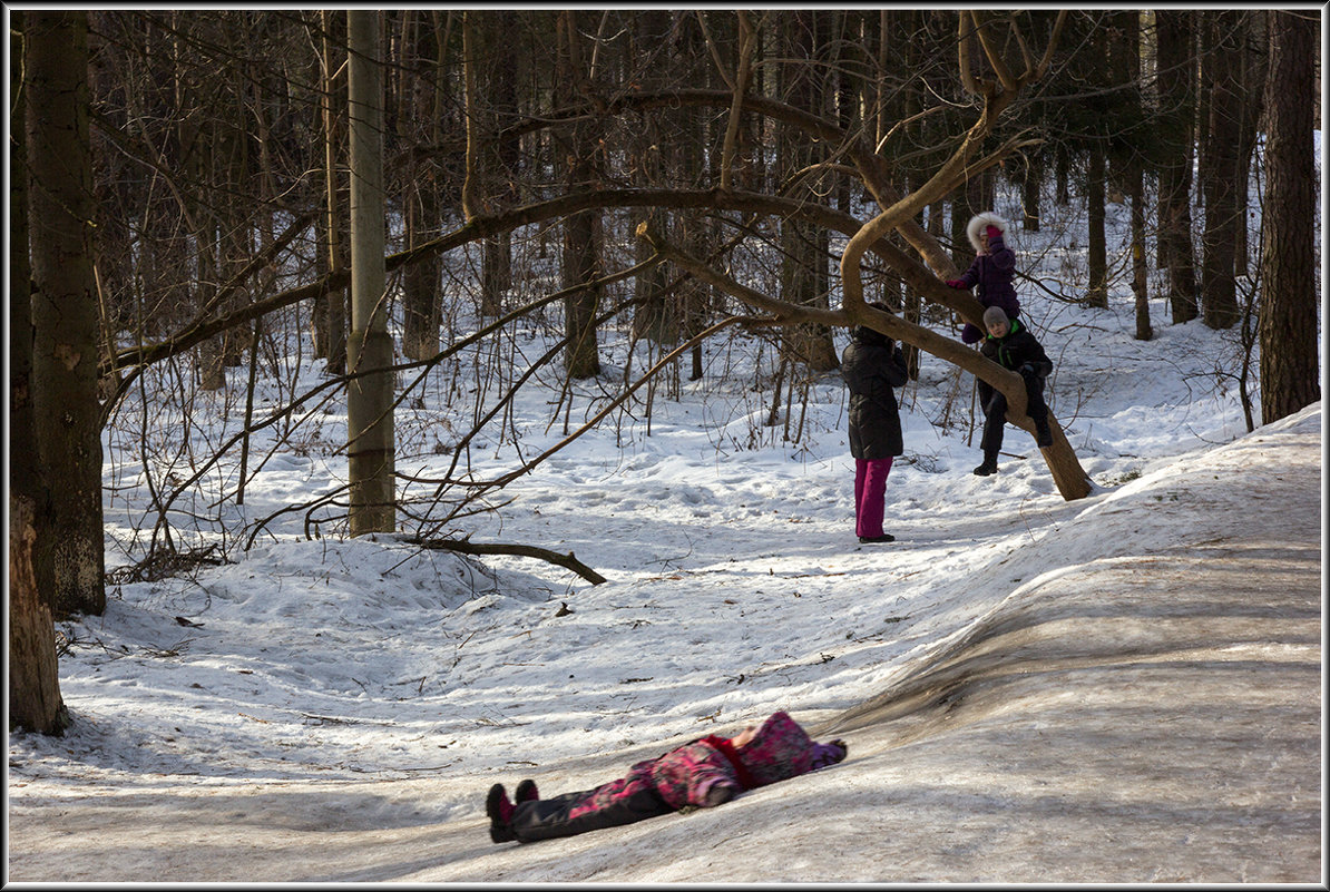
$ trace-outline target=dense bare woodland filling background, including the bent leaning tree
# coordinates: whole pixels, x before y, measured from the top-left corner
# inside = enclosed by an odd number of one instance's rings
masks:
[[[1085,201],[1075,299],[1107,306],[1128,283],[1137,339],[1240,332],[1240,384],[1260,390],[1249,427],[1321,397],[1317,8],[7,19],[11,726],[68,725],[53,619],[263,534],[274,517],[229,528],[219,505],[243,504],[273,455],[311,448],[329,404],[346,407],[346,483],[281,512],[311,538],[399,533],[592,582],[540,542],[472,542],[468,518],[616,413],[649,419],[724,332],[779,356],[774,378],[737,372],[773,416],[835,372],[833,332],[862,324],[906,346],[914,374],[942,363],[990,383],[1031,433],[1020,378],[958,338],[979,302],[944,284],[999,186],[1023,197],[1024,233],[1049,195]],[[1130,209],[1127,265],[1109,262],[1111,203]],[[519,324],[552,327],[555,347],[520,355]],[[612,327],[648,363],[605,367]],[[481,384],[426,391],[477,346]],[[286,378],[303,358],[325,363],[311,390]],[[515,395],[549,370],[567,382],[551,409],[564,439],[477,475],[469,447],[501,439]],[[255,400],[265,376],[293,382],[279,404]],[[588,382],[600,399],[579,417]],[[120,415],[137,395],[192,425],[209,393],[245,421],[207,453]],[[452,457],[443,475],[396,461],[394,420],[426,401],[458,420],[431,447]],[[267,455],[250,453],[259,431],[281,431]],[[1052,431],[1041,460],[1063,499],[1084,499],[1095,484]],[[154,512],[108,569],[110,436],[148,469]],[[209,525],[221,533],[198,534]]]

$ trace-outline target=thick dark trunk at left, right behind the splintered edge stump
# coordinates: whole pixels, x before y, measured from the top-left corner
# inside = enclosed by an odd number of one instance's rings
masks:
[[[33,407],[48,471],[55,615],[106,609],[97,401],[97,291],[92,269],[88,16],[27,17],[28,160],[32,170]],[[43,516],[37,516],[43,520]],[[40,558],[45,560],[45,558]]]

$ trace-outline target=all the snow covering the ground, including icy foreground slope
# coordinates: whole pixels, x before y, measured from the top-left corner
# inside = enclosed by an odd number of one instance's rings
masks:
[[[971,475],[971,382],[926,358],[900,391],[890,545],[854,537],[838,378],[810,384],[785,441],[761,425],[746,336],[677,399],[662,388],[649,433],[637,404],[451,525],[572,552],[602,585],[351,540],[329,513],[307,538],[303,510],[245,549],[344,479],[339,404],[242,506],[229,459],[173,516],[229,564],[121,584],[105,615],[60,623],[74,725],[9,734],[8,879],[1323,883],[1321,404],[1248,433],[1232,332],[1169,326],[1154,302],[1157,338],[1137,342],[1129,295],[1025,308],[1095,492],[1064,501],[1015,428],[1000,472]],[[539,356],[548,332],[521,338]],[[612,387],[626,343],[602,347]],[[427,408],[403,404],[399,471],[451,463],[432,444],[469,408],[448,374]],[[290,375],[321,380],[307,359]],[[525,459],[563,439],[560,383],[536,380],[507,433],[472,444],[477,479],[515,465],[513,432]],[[205,403],[229,400],[230,432],[237,393],[201,396],[198,428],[146,412],[205,455],[225,439]],[[601,383],[575,393],[573,427]],[[110,566],[156,521],[136,399],[108,433]],[[587,788],[777,709],[850,758],[717,810],[489,843],[495,782]]]

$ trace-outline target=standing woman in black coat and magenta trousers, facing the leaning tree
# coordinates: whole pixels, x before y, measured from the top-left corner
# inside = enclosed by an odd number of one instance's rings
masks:
[[[884,304],[870,304],[887,310]],[[906,383],[904,356],[890,338],[855,326],[841,358],[841,375],[850,388],[850,455],[854,456],[854,525],[859,541],[894,542],[883,532],[887,475],[891,460],[904,452],[900,411],[894,387]]]

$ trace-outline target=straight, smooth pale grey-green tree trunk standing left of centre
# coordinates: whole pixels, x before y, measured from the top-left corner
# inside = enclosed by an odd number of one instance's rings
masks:
[[[347,459],[352,536],[396,526],[392,338],[384,294],[383,86],[379,13],[347,12],[351,122],[351,336]]]

